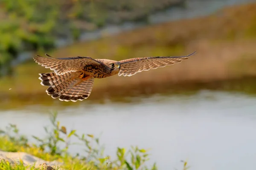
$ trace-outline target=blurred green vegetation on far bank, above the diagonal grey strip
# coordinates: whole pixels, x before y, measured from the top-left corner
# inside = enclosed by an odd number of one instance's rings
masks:
[[[173,0],[1,0],[0,68],[21,51],[48,51],[57,38],[76,40],[81,31],[107,23],[147,20]],[[11,73],[8,68],[7,73]]]

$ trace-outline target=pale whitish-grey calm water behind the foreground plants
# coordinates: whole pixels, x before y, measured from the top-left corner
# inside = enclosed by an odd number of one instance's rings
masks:
[[[201,91],[192,96],[145,99],[140,104],[104,104],[66,108],[58,119],[78,133],[102,133],[105,153],[116,147],[151,148],[151,160],[160,170],[181,169],[186,159],[191,170],[252,169],[256,160],[256,98],[242,94]],[[45,135],[51,108],[0,113],[0,128],[18,125],[27,135]],[[73,141],[74,142],[74,141]],[[81,152],[72,147],[71,152]]]

